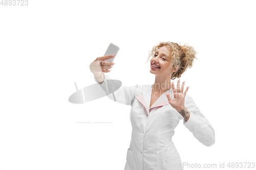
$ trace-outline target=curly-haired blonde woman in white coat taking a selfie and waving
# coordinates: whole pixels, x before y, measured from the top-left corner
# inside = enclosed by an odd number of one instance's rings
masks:
[[[104,61],[111,57],[98,57],[90,65],[95,81],[105,91],[115,86],[113,81],[106,81],[111,79],[103,74],[114,65]],[[150,58],[150,72],[156,75],[153,85],[121,86],[114,95],[108,95],[113,101],[132,106],[132,138],[124,169],[183,169],[172,141],[180,119],[204,145],[209,147],[215,142],[214,129],[193,99],[186,95],[188,87],[184,91],[185,82],[180,88],[178,80],[177,89],[170,82],[171,79],[180,78],[192,66],[196,52],[191,46],[160,42],[150,51],[147,61]]]

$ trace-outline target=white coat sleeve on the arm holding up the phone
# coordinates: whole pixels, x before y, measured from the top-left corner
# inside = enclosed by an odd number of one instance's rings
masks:
[[[115,81],[111,81],[112,79],[104,74],[104,81],[102,84],[99,84],[97,79],[94,77],[94,80],[100,85],[100,87],[108,94],[108,98],[110,98],[112,101],[124,104],[124,105],[133,105],[136,93],[138,91],[138,89],[140,88],[140,85],[136,85],[136,86],[131,86],[131,87],[127,87],[127,86],[121,86],[120,88],[118,88],[118,90],[116,90],[113,93],[109,94],[109,91],[111,91],[112,89],[115,89],[117,84],[115,83]],[[107,81],[106,81],[107,80]],[[108,82],[108,83],[106,83]]]

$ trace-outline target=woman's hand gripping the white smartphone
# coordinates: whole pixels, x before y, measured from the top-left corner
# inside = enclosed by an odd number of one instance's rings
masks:
[[[109,55],[109,56],[103,56],[103,57],[97,57],[96,60],[94,60],[90,64],[90,70],[92,73],[95,72],[110,72],[110,68],[112,68],[115,63],[113,62],[107,62],[106,59],[110,59],[115,57],[115,55]],[[109,69],[109,70],[107,70]]]

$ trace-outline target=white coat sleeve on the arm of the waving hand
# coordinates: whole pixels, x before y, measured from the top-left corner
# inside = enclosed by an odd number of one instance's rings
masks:
[[[190,112],[190,116],[187,122],[184,120],[183,125],[185,125],[201,143],[210,147],[215,143],[214,128],[212,128],[207,118],[200,112],[194,100],[188,95],[185,96],[185,107]]]

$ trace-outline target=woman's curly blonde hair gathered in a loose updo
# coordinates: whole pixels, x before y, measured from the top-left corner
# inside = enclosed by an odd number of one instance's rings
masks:
[[[197,59],[196,54],[197,52],[194,50],[192,46],[187,44],[179,45],[175,42],[160,42],[158,45],[154,46],[153,49],[148,52],[147,61],[150,60],[156,53],[156,51],[166,46],[168,51],[170,52],[171,56],[171,65],[170,65],[170,72],[171,79],[174,80],[176,78],[180,78],[181,75],[187,70],[187,68],[191,68],[194,64],[194,59]],[[179,68],[172,74],[172,68],[179,66]]]

